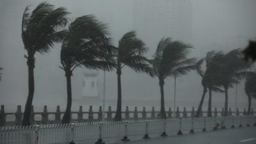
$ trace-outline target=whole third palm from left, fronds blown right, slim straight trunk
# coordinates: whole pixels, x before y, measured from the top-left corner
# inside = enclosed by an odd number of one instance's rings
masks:
[[[144,45],[143,41],[136,37],[135,31],[129,31],[122,36],[118,42],[118,47],[116,47],[117,106],[115,121],[122,120],[122,68],[127,66],[135,72],[150,72],[148,60],[143,56],[147,52],[147,48]]]

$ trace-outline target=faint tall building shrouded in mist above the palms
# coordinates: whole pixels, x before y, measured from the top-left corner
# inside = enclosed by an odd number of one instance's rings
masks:
[[[133,29],[148,47],[163,37],[191,43],[192,6],[189,0],[132,1]]]

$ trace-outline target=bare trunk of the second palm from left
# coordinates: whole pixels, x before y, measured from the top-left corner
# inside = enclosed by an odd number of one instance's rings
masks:
[[[67,108],[62,118],[62,124],[69,124],[71,120],[71,106],[72,106],[72,87],[71,87],[71,76],[72,71],[65,71],[65,76],[67,79]]]

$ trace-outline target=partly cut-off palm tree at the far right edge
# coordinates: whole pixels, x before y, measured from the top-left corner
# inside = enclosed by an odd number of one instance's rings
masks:
[[[248,110],[247,115],[251,113],[251,106],[252,106],[252,97],[255,97],[256,94],[256,72],[252,72],[246,76],[246,81],[244,84],[244,90],[246,95],[248,96]]]

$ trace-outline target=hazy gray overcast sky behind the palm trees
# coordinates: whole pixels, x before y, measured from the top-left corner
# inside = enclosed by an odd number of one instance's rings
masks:
[[[170,1],[175,4],[178,0]],[[69,12],[72,12],[69,15],[72,19],[92,13],[99,20],[107,22],[111,37],[114,38],[114,44],[127,31],[136,30],[138,36],[150,48],[146,54],[148,58],[154,54],[157,42],[163,36],[172,36],[190,43],[195,47],[190,57],[197,58],[202,58],[207,51],[213,49],[227,52],[244,47],[249,39],[256,37],[256,1],[254,0],[182,0],[181,3],[190,4],[186,7],[189,8],[186,12],[183,12],[182,7],[179,7],[180,10],[172,9],[173,5],[169,3],[170,1],[52,0],[49,3],[65,6]],[[24,58],[26,51],[23,49],[20,37],[20,23],[24,8],[27,5],[33,5],[31,8],[35,8],[40,2],[40,0],[1,0],[0,2],[0,66],[4,67],[3,79],[0,82],[0,104],[5,104],[6,107],[24,105],[26,102],[28,67]],[[179,8],[176,7],[176,9]],[[181,16],[183,20],[181,18],[178,21],[177,18],[166,20],[168,13],[172,12],[186,16]],[[185,22],[188,24],[184,24]],[[173,26],[175,24],[174,30],[171,29],[172,24]],[[171,32],[167,33],[169,30]],[[182,33],[181,36],[179,33]],[[60,44],[55,45],[54,49],[47,54],[36,54],[35,58],[34,105],[42,107],[47,104],[55,108],[56,104],[59,104],[63,108],[67,94],[64,72],[58,68],[60,66]],[[72,94],[75,99],[81,96],[83,71],[84,68],[77,68],[72,77]],[[103,72],[99,71],[100,93],[102,93],[102,74]],[[106,76],[106,97],[116,99],[116,74],[108,72]],[[197,106],[202,95],[200,81],[196,72],[190,72],[187,76],[177,79],[178,105],[184,106],[186,102],[191,102],[188,106]],[[239,84],[238,88],[238,100],[241,102],[239,106],[245,107],[246,96],[243,83]],[[147,99],[154,100],[154,104],[159,105],[157,79],[152,79],[147,74],[136,74],[129,68],[124,68],[122,73],[122,94],[124,100]],[[229,104],[233,107],[234,95],[234,89],[230,89]],[[165,97],[166,107],[172,106],[170,103],[173,100],[172,77],[166,79]],[[223,100],[223,94],[214,93],[213,106],[223,106]],[[115,105],[115,103],[112,104]]]

